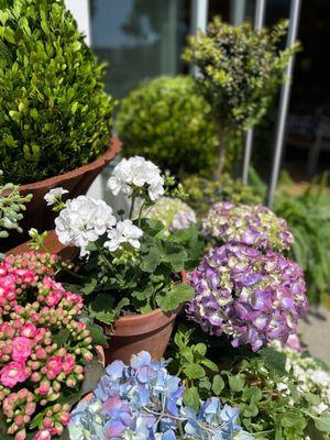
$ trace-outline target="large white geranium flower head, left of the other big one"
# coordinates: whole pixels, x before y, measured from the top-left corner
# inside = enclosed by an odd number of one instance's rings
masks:
[[[55,231],[61,243],[80,248],[80,256],[84,256],[88,254],[88,244],[114,224],[112,209],[103,200],[79,196],[68,200],[66,208],[59,212],[55,219]]]

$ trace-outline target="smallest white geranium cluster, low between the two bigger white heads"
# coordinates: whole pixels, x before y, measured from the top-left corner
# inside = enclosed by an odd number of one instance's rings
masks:
[[[129,243],[135,249],[140,249],[141,237],[143,231],[135,227],[132,220],[119,221],[114,229],[108,232],[108,241],[105,243],[105,248],[109,249],[110,252],[117,251],[121,244]]]

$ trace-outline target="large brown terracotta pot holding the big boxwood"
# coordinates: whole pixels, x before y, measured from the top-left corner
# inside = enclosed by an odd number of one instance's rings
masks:
[[[20,193],[23,196],[28,194],[33,195],[33,199],[26,204],[26,211],[23,212],[24,218],[20,221],[20,226],[23,228],[23,233],[12,231],[8,239],[1,240],[1,250],[6,252],[10,248],[29,240],[28,231],[31,228],[37,229],[38,232],[54,229],[54,219],[56,213],[47,207],[44,200],[45,194],[47,194],[52,188],[62,186],[64,189],[69,191],[67,195],[68,198],[85,195],[102,168],[118,154],[120,147],[121,143],[119,139],[112,138],[106,153],[90,164],[45,180],[22,185],[20,187]]]

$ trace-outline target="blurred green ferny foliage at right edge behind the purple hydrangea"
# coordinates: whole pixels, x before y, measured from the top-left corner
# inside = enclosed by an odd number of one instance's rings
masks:
[[[324,174],[294,195],[288,187],[293,182],[286,176],[286,185],[282,178],[274,206],[274,211],[288,222],[295,237],[290,256],[305,271],[311,301],[319,301],[330,293],[330,193],[327,179]],[[327,297],[324,299],[327,301]]]

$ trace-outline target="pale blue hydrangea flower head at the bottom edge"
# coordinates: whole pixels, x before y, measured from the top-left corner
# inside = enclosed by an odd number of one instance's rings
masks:
[[[239,409],[212,397],[196,414],[183,404],[184,392],[166,363],[152,361],[147,352],[133,355],[129,366],[114,361],[92,400],[74,410],[70,439],[252,439],[235,424]]]

